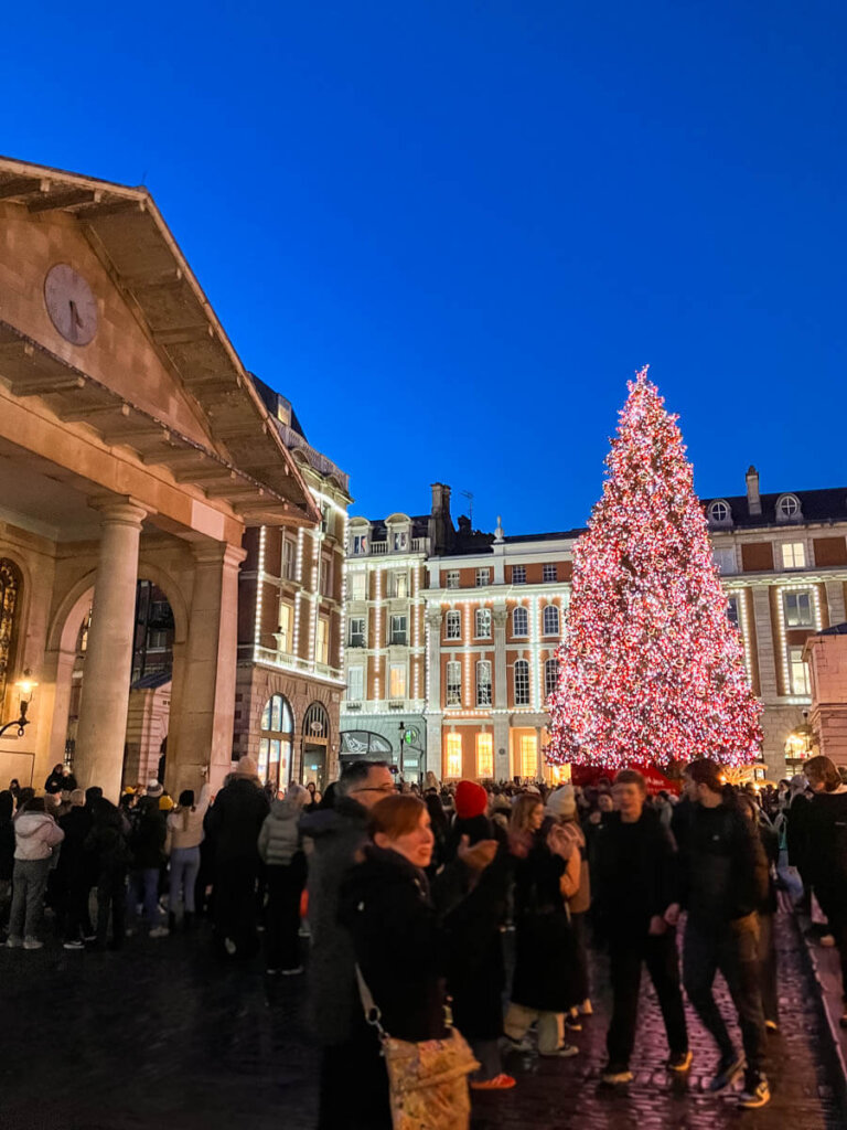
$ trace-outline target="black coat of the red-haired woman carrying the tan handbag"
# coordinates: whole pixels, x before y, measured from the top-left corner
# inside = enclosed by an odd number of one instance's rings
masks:
[[[339,920],[356,959],[399,1040],[438,1040],[445,1027],[445,936],[422,871],[398,852],[368,845],[341,886]]]

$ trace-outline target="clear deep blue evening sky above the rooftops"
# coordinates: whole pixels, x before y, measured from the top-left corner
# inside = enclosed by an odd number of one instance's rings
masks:
[[[645,363],[702,495],[847,485],[846,51],[842,0],[46,0],[0,151],[150,188],[355,512],[566,529]]]

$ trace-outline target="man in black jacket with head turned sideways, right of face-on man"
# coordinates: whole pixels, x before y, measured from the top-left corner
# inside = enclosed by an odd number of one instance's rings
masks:
[[[688,999],[718,1045],[721,1062],[709,1089],[724,1090],[744,1071],[740,1104],[763,1106],[766,1027],[759,982],[757,907],[768,895],[768,862],[756,827],[724,798],[721,768],[698,758],[686,770],[688,802],[678,806],[673,832],[682,864],[688,923],[682,979]],[[675,922],[679,907],[665,915]],[[744,1054],[735,1050],[711,985],[721,971],[739,1016]],[[746,1062],[745,1062],[746,1057]]]

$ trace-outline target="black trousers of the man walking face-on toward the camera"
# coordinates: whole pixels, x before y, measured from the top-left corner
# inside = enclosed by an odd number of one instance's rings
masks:
[[[619,1068],[629,1066],[638,1024],[638,992],[643,964],[647,966],[658,997],[670,1052],[672,1055],[687,1052],[688,1028],[680,991],[676,931],[666,930],[657,937],[647,935],[644,938],[626,936],[612,938],[609,945],[609,958],[614,996],[612,1023],[606,1035],[609,1062]]]

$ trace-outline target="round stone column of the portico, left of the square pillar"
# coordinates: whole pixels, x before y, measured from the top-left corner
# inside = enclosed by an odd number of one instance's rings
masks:
[[[81,788],[97,784],[116,802],[132,672],[138,547],[147,511],[131,498],[93,505],[103,513],[103,532],[73,768]]]

